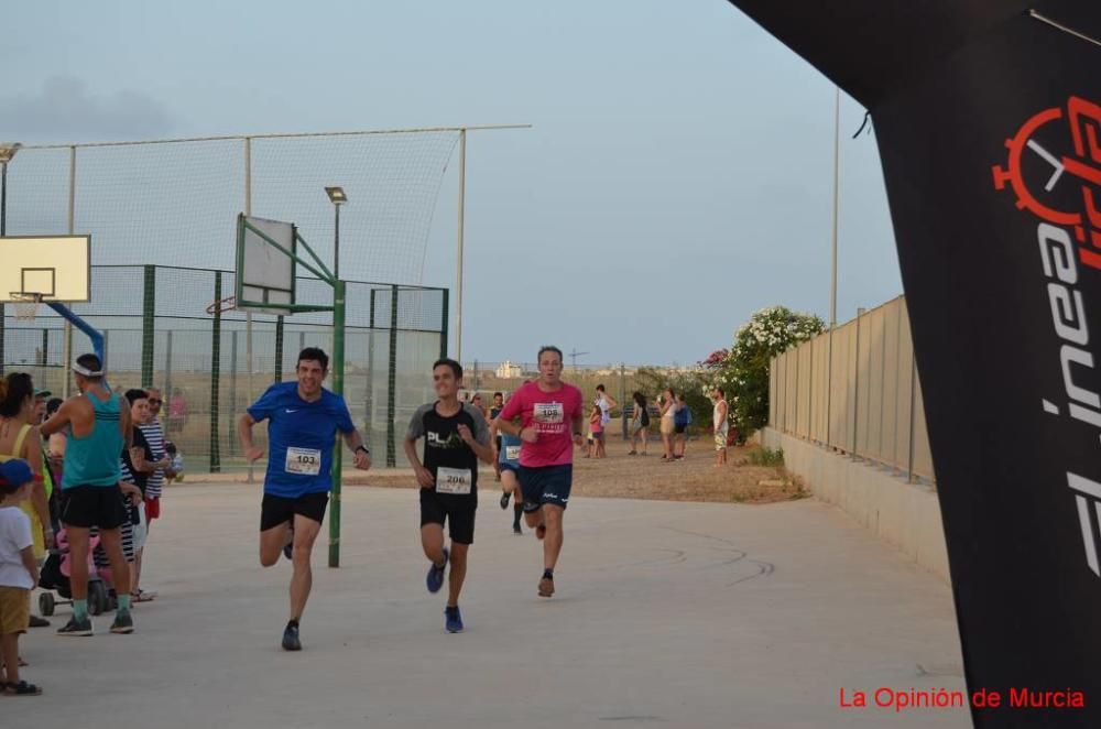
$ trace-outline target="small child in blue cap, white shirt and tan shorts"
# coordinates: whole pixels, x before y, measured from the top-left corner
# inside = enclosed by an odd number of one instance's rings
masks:
[[[39,584],[31,520],[19,508],[30,498],[34,475],[25,460],[0,464],[0,650],[3,653],[3,693],[39,696],[42,689],[19,677],[19,635],[31,619],[31,590]]]

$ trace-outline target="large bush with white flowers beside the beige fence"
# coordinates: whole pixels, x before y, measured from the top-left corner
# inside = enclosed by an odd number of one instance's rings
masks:
[[[727,393],[730,423],[740,438],[768,422],[768,360],[825,329],[814,314],[770,306],[738,327],[729,350],[720,349],[700,362],[710,373],[708,389],[719,387]]]

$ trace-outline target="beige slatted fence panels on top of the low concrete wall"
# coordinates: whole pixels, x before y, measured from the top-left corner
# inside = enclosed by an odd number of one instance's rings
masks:
[[[774,358],[768,378],[774,429],[935,480],[904,297]]]

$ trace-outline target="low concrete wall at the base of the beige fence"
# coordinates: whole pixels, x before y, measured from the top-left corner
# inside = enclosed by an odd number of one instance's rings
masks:
[[[784,449],[784,465],[816,497],[840,507],[884,542],[949,581],[940,503],[930,487],[907,483],[881,467],[772,428],[761,431],[761,440],[770,448]]]

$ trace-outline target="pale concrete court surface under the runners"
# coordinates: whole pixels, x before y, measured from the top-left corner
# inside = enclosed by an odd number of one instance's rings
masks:
[[[259,487],[171,487],[138,632],[108,633],[110,616],[89,639],[32,629],[24,677],[46,694],[0,697],[0,726],[970,726],[959,708],[839,708],[841,687],[963,679],[949,588],[832,507],[575,499],[543,600],[538,543],[497,494],[483,485],[453,635],[446,589],[424,587],[415,492],[347,487],[344,566],[315,551],[290,654],[290,564],[258,564]]]

